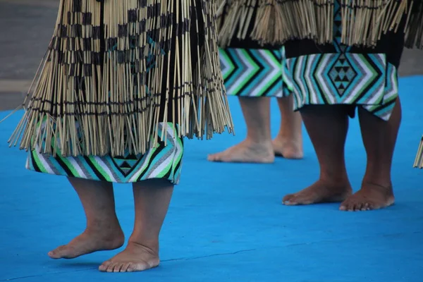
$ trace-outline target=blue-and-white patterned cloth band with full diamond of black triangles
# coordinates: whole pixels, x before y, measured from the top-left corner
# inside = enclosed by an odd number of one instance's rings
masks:
[[[294,108],[311,104],[361,105],[387,121],[398,97],[398,74],[385,54],[314,54],[287,59]]]

